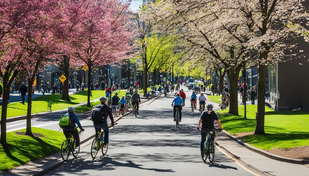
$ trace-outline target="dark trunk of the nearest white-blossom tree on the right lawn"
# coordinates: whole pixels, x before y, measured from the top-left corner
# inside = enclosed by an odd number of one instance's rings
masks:
[[[260,56],[261,57],[261,56]],[[263,57],[267,58],[267,57]],[[257,89],[257,121],[254,134],[265,134],[264,121],[265,121],[265,82],[266,82],[267,65],[259,64],[258,68],[258,89]]]

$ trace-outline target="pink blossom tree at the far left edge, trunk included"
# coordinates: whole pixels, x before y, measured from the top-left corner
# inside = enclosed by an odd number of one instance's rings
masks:
[[[38,14],[49,9],[53,0],[4,0],[0,6],[0,79],[3,82],[1,112],[1,139],[6,145],[6,112],[10,85],[22,70],[23,63],[36,51],[29,41],[29,34],[36,27]],[[44,16],[43,16],[44,18]]]

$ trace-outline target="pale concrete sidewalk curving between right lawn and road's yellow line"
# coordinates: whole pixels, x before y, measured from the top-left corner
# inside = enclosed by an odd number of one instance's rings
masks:
[[[223,133],[217,133],[215,142],[233,157],[239,159],[245,165],[248,165],[262,174],[280,176],[307,176],[309,174],[309,166],[281,162],[267,158],[245,148]]]

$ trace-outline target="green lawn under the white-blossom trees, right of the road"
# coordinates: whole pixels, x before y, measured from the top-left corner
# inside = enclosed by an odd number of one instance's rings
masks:
[[[244,107],[239,106],[239,116],[227,114],[228,109],[216,111],[222,128],[232,135],[254,132],[257,105],[247,105],[247,119],[243,118]],[[293,148],[309,145],[309,113],[300,111],[273,111],[265,107],[266,135],[248,135],[243,141],[260,149]]]

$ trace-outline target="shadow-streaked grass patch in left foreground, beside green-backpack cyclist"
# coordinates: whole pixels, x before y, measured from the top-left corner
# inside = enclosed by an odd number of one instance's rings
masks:
[[[19,130],[25,132],[26,129]],[[62,132],[32,127],[32,133],[45,137],[6,133],[7,146],[0,145],[0,172],[51,155],[61,149],[65,136]]]

